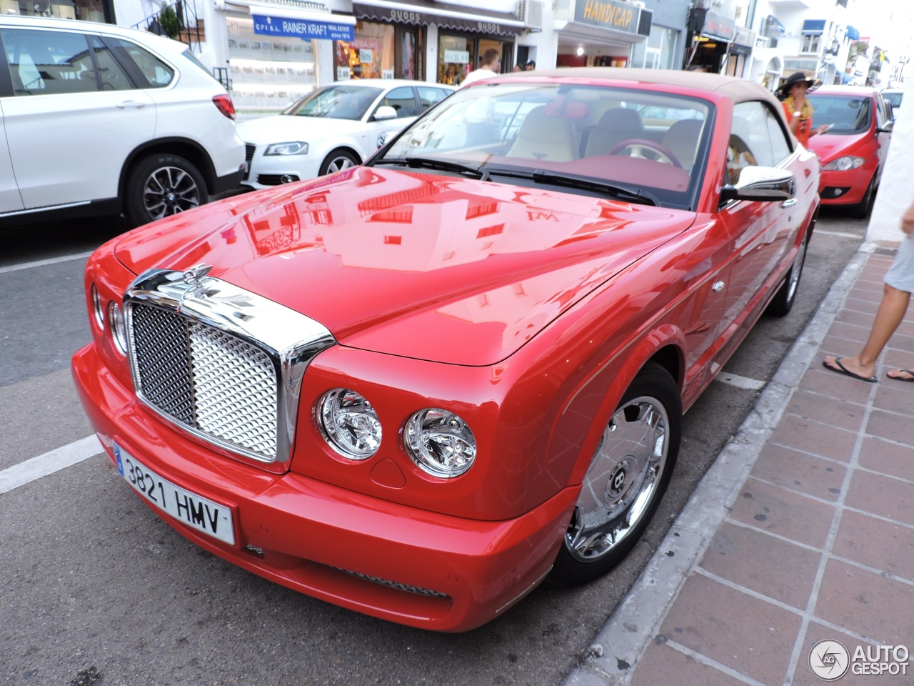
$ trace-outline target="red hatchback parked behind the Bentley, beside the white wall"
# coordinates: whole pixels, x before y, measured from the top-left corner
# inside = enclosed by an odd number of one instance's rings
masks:
[[[862,219],[873,209],[886,163],[892,106],[875,88],[861,86],[823,86],[807,97],[813,103],[813,127],[832,127],[809,139],[809,148],[822,160],[822,202]]]

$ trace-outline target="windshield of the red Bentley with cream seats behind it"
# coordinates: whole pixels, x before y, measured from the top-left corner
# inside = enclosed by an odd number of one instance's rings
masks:
[[[369,164],[688,208],[710,114],[709,102],[655,86],[506,81],[455,92]]]

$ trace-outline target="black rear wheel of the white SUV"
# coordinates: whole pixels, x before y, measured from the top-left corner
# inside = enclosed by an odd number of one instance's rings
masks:
[[[139,159],[127,175],[123,213],[133,226],[207,203],[207,182],[184,157],[156,153]]]

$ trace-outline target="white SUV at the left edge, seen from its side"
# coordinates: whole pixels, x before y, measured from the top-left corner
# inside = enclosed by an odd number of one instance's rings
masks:
[[[146,31],[0,16],[0,227],[193,209],[244,171],[225,89]]]

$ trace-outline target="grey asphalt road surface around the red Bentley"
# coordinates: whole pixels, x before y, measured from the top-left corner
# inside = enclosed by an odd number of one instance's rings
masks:
[[[69,356],[90,338],[82,268],[85,253],[123,229],[86,220],[0,231],[0,478],[91,434],[69,377]],[[823,211],[791,315],[763,318],[686,415],[654,523],[600,581],[543,585],[465,634],[399,627],[198,549],[100,452],[0,493],[0,683],[558,684],[755,402],[759,390],[740,379],[771,377],[865,230],[866,220]]]

